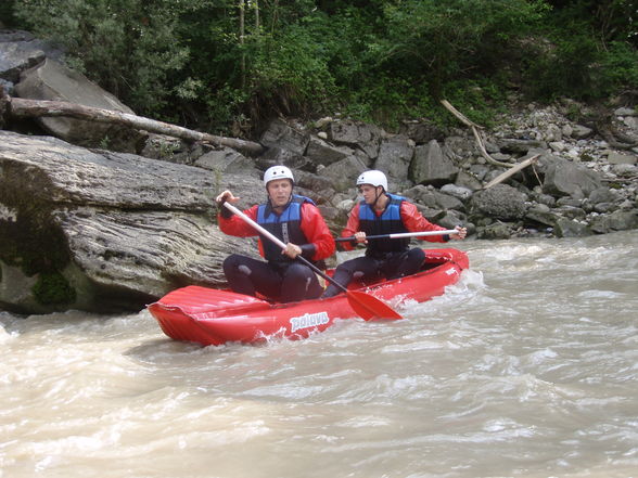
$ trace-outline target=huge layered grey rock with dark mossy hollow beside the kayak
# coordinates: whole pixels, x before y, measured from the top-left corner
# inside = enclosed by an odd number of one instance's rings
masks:
[[[0,307],[140,309],[187,284],[224,284],[224,258],[254,246],[214,227],[222,189],[240,206],[264,198],[243,175],[0,131]]]

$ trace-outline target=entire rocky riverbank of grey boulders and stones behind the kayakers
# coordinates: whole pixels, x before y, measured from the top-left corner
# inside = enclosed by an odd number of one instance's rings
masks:
[[[14,96],[129,112],[68,70],[25,33],[0,35],[0,78]],[[186,142],[63,117],[0,131],[0,308],[21,313],[136,310],[187,284],[224,285],[221,260],[255,254],[251,240],[214,225],[214,196],[231,189],[250,206],[260,176],[294,170],[336,234],[363,170],[384,170],[392,192],[431,221],[471,238],[565,237],[638,228],[638,117],[617,105],[611,130],[570,119],[588,107],[515,105],[492,130],[425,120],[399,131],[347,118],[275,120],[255,139],[265,152]],[[624,142],[615,141],[622,138]],[[495,178],[536,162],[502,182]]]

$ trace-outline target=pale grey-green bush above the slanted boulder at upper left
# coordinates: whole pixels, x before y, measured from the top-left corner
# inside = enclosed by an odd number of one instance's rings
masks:
[[[60,42],[68,62],[139,113],[157,112],[188,48],[176,41],[171,0],[15,0],[15,15],[36,35]]]

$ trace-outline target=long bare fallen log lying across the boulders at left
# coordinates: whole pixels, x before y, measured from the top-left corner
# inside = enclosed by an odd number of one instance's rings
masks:
[[[2,93],[2,98],[0,98],[0,118],[30,118],[40,116],[66,116],[89,121],[122,125],[128,128],[166,134],[187,141],[201,141],[216,146],[228,146],[251,156],[256,156],[264,152],[264,146],[259,143],[203,133],[129,113],[114,112],[63,101],[11,98]]]

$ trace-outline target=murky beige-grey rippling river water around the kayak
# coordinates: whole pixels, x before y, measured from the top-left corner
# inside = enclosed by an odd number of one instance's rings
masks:
[[[0,477],[637,477],[638,232],[454,244],[445,296],[306,340],[0,312]]]

